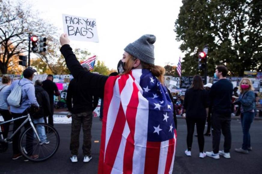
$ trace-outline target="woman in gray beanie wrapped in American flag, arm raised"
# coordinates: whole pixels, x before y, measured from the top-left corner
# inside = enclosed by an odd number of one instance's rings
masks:
[[[154,65],[154,35],[128,44],[118,62],[118,76],[87,72],[76,59],[69,38],[60,51],[79,90],[104,99],[98,173],[172,173],[176,131],[165,69]]]

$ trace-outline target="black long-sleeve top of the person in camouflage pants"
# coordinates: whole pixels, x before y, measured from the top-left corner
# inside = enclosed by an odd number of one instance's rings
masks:
[[[72,79],[67,89],[66,104],[70,112],[77,114],[96,109],[98,98],[90,95],[88,90],[82,90],[77,84],[77,79]]]

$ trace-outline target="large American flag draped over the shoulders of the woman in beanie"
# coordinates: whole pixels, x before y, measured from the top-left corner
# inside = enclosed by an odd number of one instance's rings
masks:
[[[172,173],[176,131],[166,87],[149,70],[105,84],[99,174]]]

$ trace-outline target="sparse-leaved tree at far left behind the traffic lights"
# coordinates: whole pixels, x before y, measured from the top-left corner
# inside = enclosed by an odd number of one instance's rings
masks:
[[[48,50],[36,53],[49,64],[59,52],[57,29],[38,17],[26,1],[0,0],[0,70],[7,73],[10,59],[28,51],[29,35],[45,36]]]

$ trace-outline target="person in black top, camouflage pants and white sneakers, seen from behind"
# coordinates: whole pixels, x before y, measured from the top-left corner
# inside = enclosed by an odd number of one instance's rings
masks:
[[[82,64],[84,70],[89,72],[89,65]],[[70,113],[72,113],[72,128],[71,128],[71,161],[78,162],[79,134],[81,125],[83,126],[83,162],[89,162],[91,156],[91,127],[93,110],[98,104],[98,97],[90,95],[88,90],[81,89],[77,84],[78,79],[72,79],[69,83],[66,96],[66,104]],[[73,103],[73,107],[72,107]]]

